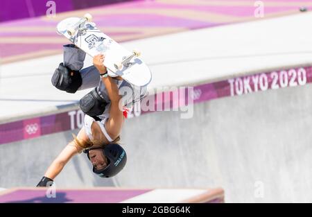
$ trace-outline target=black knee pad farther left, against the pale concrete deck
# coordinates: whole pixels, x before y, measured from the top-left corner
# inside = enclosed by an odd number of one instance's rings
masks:
[[[57,69],[55,69],[51,78],[52,85],[67,93],[74,94],[77,89],[82,85],[83,78],[79,71],[73,71],[65,67],[61,62]]]

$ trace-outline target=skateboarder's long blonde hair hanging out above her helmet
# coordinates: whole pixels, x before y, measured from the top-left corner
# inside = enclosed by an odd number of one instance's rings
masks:
[[[93,127],[95,126],[95,127]],[[78,139],[75,134],[72,134],[73,140],[77,144],[77,146],[80,146],[80,148],[91,148],[92,146],[105,146],[106,144],[103,144],[103,140],[105,139],[105,136],[100,128],[99,125],[93,125],[92,128],[92,137],[94,138],[92,141],[85,141],[85,139]],[[119,144],[120,137],[118,136],[114,141],[108,142],[108,144]]]

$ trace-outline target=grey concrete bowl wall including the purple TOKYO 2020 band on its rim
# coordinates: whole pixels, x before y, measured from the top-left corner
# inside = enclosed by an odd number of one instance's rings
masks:
[[[285,76],[292,74],[295,78]],[[311,202],[311,82],[312,67],[299,67],[194,84],[193,94],[185,95],[188,103],[193,98],[188,119],[181,118],[185,107],[173,111],[171,98],[171,111],[130,113],[121,134],[128,163],[119,175],[95,177],[80,155],[55,183],[60,188],[221,186],[226,202]],[[148,96],[156,99],[155,107],[166,105],[157,96],[163,95]],[[1,187],[35,186],[82,120],[82,112],[74,110],[0,125],[0,165],[6,173]],[[35,123],[40,132],[17,138]]]

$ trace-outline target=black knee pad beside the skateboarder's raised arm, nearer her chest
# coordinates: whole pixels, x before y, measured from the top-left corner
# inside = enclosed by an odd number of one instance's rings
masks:
[[[89,116],[103,114],[107,105],[106,101],[98,95],[96,88],[89,92],[79,101],[80,109]]]

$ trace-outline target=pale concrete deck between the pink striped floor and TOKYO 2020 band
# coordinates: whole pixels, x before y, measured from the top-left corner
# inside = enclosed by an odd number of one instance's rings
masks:
[[[123,43],[139,49],[153,73],[148,89],[209,83],[247,73],[311,64],[312,12]],[[66,43],[64,41],[64,43]],[[51,85],[62,54],[0,66],[0,123],[58,110],[90,90],[67,94]],[[85,67],[92,64],[85,60]],[[21,109],[22,108],[22,109]]]

